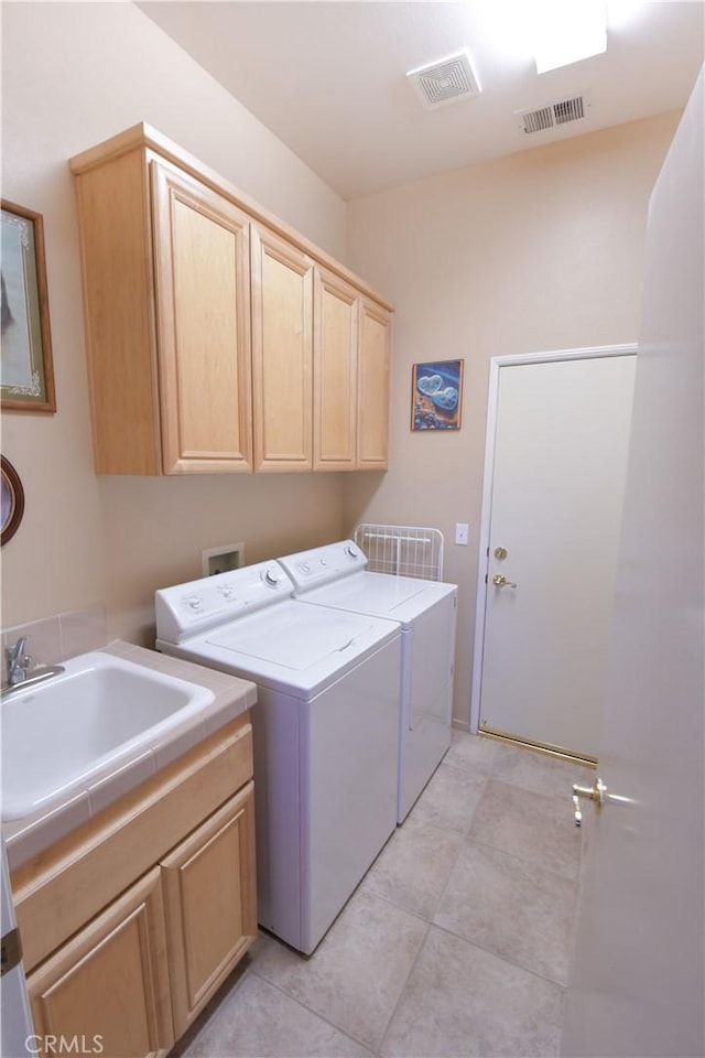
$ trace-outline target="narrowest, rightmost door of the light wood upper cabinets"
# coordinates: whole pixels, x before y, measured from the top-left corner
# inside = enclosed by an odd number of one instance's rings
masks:
[[[391,314],[364,299],[358,344],[357,466],[387,469]]]

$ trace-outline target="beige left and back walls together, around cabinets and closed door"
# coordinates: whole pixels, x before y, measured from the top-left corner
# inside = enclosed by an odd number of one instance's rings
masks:
[[[677,121],[634,122],[346,205],[130,3],[2,4],[2,194],[44,215],[58,412],[6,413],[26,493],[2,550],[7,627],[105,602],[147,641],[152,593],[200,551],[248,561],[362,519],[431,525],[460,585],[455,716],[469,715],[490,357],[638,336],[647,202]],[[147,120],[397,304],[388,474],[98,478],[67,160]],[[346,231],[346,216],[348,227]],[[346,248],[347,240],[347,248]],[[465,359],[463,429],[411,434],[411,365]],[[457,521],[470,543],[453,543]]]

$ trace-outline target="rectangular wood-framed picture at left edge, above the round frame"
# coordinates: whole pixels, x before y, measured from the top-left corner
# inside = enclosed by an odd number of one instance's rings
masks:
[[[0,406],[55,412],[42,215],[2,199]]]

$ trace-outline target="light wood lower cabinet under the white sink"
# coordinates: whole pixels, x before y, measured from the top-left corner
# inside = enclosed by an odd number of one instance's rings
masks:
[[[229,787],[226,800],[204,819],[198,802],[217,798],[218,787]],[[180,812],[174,844],[167,833]],[[50,1056],[64,1037],[78,1054],[158,1058],[257,937],[251,725],[236,721],[105,814],[37,857],[24,878],[18,872],[37,1046]],[[144,863],[149,850],[149,870],[148,860],[122,892],[117,882],[105,906],[119,865]],[[76,918],[75,905],[88,906],[100,886],[98,914]],[[43,920],[59,924],[63,942],[46,941]]]

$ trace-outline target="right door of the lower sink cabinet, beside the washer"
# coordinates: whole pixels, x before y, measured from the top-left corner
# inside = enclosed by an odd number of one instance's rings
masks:
[[[162,877],[178,1038],[257,936],[252,782],[162,860]]]

